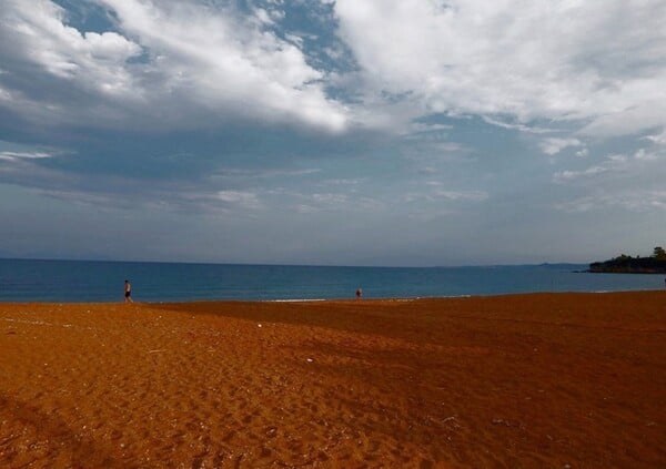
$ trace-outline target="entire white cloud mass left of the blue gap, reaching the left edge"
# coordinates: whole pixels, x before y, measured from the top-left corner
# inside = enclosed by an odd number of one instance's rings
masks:
[[[345,109],[325,95],[323,73],[264,28],[276,12],[242,18],[209,2],[95,1],[113,12],[117,32],[78,31],[49,0],[7,0],[0,12],[0,57],[88,93],[81,102],[42,96],[65,114],[57,122],[196,128],[241,116],[331,132],[347,125]]]

